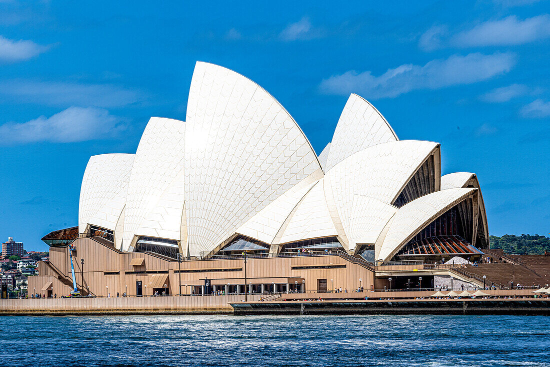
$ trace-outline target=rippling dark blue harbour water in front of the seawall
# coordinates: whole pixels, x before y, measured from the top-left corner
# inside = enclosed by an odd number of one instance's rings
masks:
[[[550,317],[0,317],[3,366],[549,366]]]

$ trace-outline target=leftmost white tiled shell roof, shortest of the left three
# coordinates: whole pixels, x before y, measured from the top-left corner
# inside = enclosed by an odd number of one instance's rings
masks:
[[[88,224],[115,230],[126,203],[134,154],[101,154],[90,157],[80,189],[79,233]]]

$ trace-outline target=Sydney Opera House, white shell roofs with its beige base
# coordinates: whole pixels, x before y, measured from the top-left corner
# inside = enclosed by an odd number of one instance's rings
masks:
[[[68,294],[69,255],[92,295],[433,287],[446,274],[424,263],[488,247],[477,177],[441,176],[440,149],[352,94],[317,155],[267,91],[197,62],[186,121],[152,117],[135,154],[90,158],[78,228],[43,238],[29,287]]]

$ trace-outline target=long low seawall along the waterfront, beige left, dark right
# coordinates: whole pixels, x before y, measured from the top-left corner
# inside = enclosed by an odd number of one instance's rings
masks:
[[[476,314],[550,315],[532,290],[487,290],[497,299],[414,299],[432,292],[298,293],[228,296],[3,299],[0,315]],[[370,299],[364,300],[367,295]],[[511,298],[511,297],[516,298]],[[260,301],[262,297],[275,298]],[[510,298],[504,298],[510,297]],[[521,298],[519,298],[521,297]],[[522,298],[525,297],[525,298]],[[379,299],[384,298],[384,299]],[[398,299],[389,299],[398,298]],[[401,298],[401,299],[399,299]]]

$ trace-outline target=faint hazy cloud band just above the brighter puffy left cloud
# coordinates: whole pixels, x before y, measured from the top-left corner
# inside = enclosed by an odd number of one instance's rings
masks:
[[[143,99],[140,91],[112,84],[81,84],[10,80],[0,83],[4,99],[52,106],[119,107]]]

